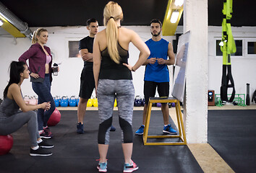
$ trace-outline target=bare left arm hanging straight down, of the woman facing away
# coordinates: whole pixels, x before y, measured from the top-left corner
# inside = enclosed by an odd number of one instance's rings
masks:
[[[99,41],[99,38],[98,38],[98,35],[96,35],[93,43],[93,75],[95,80],[96,95],[97,95],[97,88],[98,88],[98,75],[100,74],[100,68],[101,68],[101,50],[100,50],[98,41]]]

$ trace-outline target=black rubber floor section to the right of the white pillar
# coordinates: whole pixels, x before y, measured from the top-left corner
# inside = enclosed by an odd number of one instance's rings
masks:
[[[256,172],[256,110],[209,110],[208,143],[234,172]]]

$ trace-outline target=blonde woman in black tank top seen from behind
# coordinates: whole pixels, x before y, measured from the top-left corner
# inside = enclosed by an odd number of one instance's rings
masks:
[[[93,45],[93,74],[95,91],[98,97],[98,150],[100,161],[98,171],[107,171],[106,155],[109,144],[109,130],[112,124],[112,112],[116,97],[119,124],[122,130],[122,148],[124,152],[124,172],[138,169],[132,161],[132,114],[135,89],[132,84],[132,71],[142,66],[150,55],[147,45],[136,32],[121,27],[123,12],[121,6],[110,1],[104,12],[106,29],[98,32]],[[134,66],[129,65],[129,43],[140,50],[140,56]]]

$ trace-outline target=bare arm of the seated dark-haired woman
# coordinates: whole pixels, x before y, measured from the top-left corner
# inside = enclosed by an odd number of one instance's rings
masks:
[[[7,97],[14,99],[17,105],[19,105],[22,112],[27,112],[30,110],[38,110],[38,109],[44,109],[48,110],[51,107],[50,102],[43,102],[39,105],[27,105],[22,98],[22,94],[20,93],[20,86],[17,84],[12,84],[9,86]]]

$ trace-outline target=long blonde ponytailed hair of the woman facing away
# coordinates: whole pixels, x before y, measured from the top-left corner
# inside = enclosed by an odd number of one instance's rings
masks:
[[[115,63],[119,63],[120,56],[117,50],[117,36],[118,28],[116,20],[123,19],[123,12],[121,6],[114,1],[109,1],[106,4],[103,12],[104,25],[106,25],[106,39],[108,54]]]

